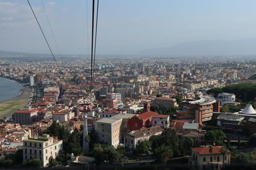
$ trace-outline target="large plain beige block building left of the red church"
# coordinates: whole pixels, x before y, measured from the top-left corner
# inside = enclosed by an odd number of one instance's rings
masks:
[[[133,114],[120,113],[114,117],[97,120],[95,131],[98,134],[99,141],[113,145],[116,148],[122,138],[122,128],[126,126],[128,118],[133,116]]]

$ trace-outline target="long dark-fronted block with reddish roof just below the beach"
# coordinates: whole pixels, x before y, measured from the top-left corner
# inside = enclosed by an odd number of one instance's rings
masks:
[[[37,120],[37,109],[19,110],[15,111],[13,122],[15,124],[32,124]]]

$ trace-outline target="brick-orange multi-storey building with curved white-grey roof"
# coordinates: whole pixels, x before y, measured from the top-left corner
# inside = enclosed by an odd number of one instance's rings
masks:
[[[182,102],[182,110],[177,110],[178,119],[195,120],[195,123],[203,125],[204,122],[211,120],[212,113],[220,112],[220,102],[213,97],[202,96],[193,101]]]

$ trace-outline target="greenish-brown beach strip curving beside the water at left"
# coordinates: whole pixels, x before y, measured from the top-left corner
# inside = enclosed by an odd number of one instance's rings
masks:
[[[11,117],[15,111],[24,108],[28,104],[32,90],[30,87],[24,87],[21,90],[22,93],[19,96],[0,103],[0,119]]]

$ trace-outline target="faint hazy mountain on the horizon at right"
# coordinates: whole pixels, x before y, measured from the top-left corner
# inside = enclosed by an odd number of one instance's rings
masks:
[[[256,39],[205,40],[146,50],[140,55],[256,55]]]

